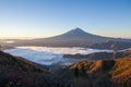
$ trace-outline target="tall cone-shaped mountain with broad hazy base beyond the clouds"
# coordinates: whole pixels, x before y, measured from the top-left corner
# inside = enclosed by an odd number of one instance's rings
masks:
[[[58,36],[31,39],[31,40],[19,40],[19,41],[15,41],[13,45],[15,46],[17,45],[19,46],[50,46],[50,47],[87,47],[93,44],[100,44],[108,40],[131,42],[131,39],[103,37],[103,36],[86,33],[81,28],[76,27],[74,29],[71,29]]]

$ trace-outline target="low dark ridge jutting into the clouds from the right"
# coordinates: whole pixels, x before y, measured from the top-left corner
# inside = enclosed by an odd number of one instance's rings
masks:
[[[115,58],[131,58],[131,50],[118,51],[116,54],[114,52],[95,52],[90,54],[64,54],[64,59],[88,59],[92,61],[104,60],[104,59],[115,59]]]

